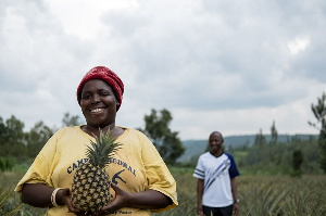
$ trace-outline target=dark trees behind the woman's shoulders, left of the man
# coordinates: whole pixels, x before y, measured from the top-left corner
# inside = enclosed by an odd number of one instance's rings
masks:
[[[146,127],[138,128],[145,132],[159,150],[167,164],[175,161],[185,152],[178,138],[178,132],[170,129],[172,114],[167,110],[155,111],[145,115]],[[77,115],[65,113],[62,127],[82,125]],[[14,115],[8,119],[0,116],[0,170],[11,169],[14,162],[21,163],[35,158],[58,128],[47,126],[42,120],[35,124],[29,131],[24,131],[24,123]]]

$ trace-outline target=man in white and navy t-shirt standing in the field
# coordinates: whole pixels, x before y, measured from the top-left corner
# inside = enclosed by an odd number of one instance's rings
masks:
[[[236,177],[239,176],[234,157],[222,149],[221,132],[210,135],[210,151],[202,154],[193,173],[198,178],[198,215],[236,216],[239,208]]]

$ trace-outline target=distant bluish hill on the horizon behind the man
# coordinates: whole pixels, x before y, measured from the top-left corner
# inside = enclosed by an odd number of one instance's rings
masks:
[[[229,147],[237,148],[241,145],[252,145],[254,143],[256,135],[241,135],[241,136],[228,136],[224,137],[224,147],[227,149]],[[287,143],[291,140],[309,140],[317,139],[317,135],[278,135],[277,142]],[[269,142],[271,135],[265,135],[266,142]],[[183,156],[180,156],[177,162],[187,163],[189,161],[197,160],[198,156],[204,153],[209,140],[185,140],[183,141],[186,151]]]

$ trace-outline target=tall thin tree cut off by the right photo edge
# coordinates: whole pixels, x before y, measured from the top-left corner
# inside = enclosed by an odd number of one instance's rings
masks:
[[[326,173],[326,93],[324,92],[321,98],[317,98],[317,104],[312,104],[311,110],[317,118],[317,123],[309,124],[319,130],[318,147],[319,147],[319,161],[321,167]],[[317,126],[317,125],[321,126]]]

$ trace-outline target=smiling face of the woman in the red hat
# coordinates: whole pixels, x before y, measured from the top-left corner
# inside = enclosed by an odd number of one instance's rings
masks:
[[[101,128],[114,125],[117,104],[111,86],[105,81],[92,79],[84,85],[80,107],[87,125]]]

